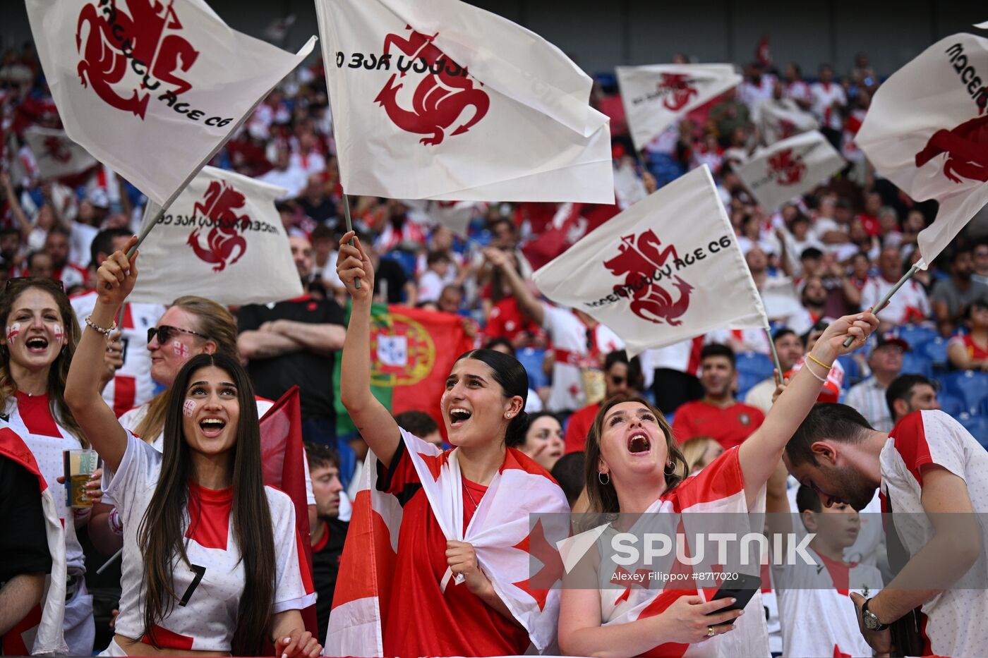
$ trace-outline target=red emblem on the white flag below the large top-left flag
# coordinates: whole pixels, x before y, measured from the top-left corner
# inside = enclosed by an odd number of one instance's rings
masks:
[[[205,247],[200,240],[202,227],[193,229],[187,243],[206,263],[215,263],[213,272],[220,272],[227,265],[233,265],[247,251],[247,240],[240,231],[250,223],[250,218],[246,214],[238,215],[234,211],[242,208],[245,202],[246,198],[243,194],[237,192],[226,181],[212,181],[206,189],[203,201],[193,206],[193,211],[197,215],[211,219],[212,227],[206,235]],[[239,251],[230,259],[235,249]]]

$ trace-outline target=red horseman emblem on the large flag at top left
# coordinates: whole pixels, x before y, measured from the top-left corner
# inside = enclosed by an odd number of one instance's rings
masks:
[[[179,35],[166,34],[182,29],[173,4],[174,0],[167,7],[157,0],[127,0],[129,15],[115,0],[100,0],[101,9],[85,5],[75,33],[75,47],[82,55],[78,66],[82,86],[92,87],[109,105],[141,119],[150,98],[150,93],[143,90],[155,90],[164,83],[171,85],[177,96],[192,89],[176,72],[188,71],[199,51]],[[84,30],[86,26],[88,30]],[[126,97],[114,87],[124,80],[128,69],[143,79]]]

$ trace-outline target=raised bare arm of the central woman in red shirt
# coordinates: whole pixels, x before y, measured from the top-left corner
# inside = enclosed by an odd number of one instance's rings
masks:
[[[355,246],[349,244],[351,239]],[[391,414],[371,393],[373,266],[354,231],[340,238],[336,274],[353,299],[350,325],[346,329],[346,340],[343,342],[340,401],[347,408],[357,431],[371,451],[384,466],[390,466],[391,457],[398,450],[398,442],[401,441],[401,432]],[[361,288],[354,286],[355,279],[361,280]]]

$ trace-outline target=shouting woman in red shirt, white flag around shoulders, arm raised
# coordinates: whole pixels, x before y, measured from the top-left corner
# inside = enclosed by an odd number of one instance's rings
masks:
[[[525,443],[528,374],[513,357],[471,350],[454,363],[442,398],[423,401],[440,405],[455,448],[440,452],[400,429],[371,395],[374,273],[360,242],[349,244],[352,238],[349,232],[340,240],[337,261],[353,298],[340,399],[376,464],[367,470],[368,486],[402,507],[391,580],[401,596],[380,602],[382,655],[521,655],[530,642],[544,652],[555,644],[558,590],[546,584],[543,594],[535,593],[520,546],[527,545],[530,514],[569,508],[545,469],[508,447]],[[345,550],[341,573],[359,570],[363,559]],[[349,632],[343,611],[338,607],[330,617],[330,655],[357,648],[341,639]]]

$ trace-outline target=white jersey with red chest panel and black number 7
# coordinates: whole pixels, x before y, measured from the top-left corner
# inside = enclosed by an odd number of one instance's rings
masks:
[[[117,632],[148,642],[144,635],[144,555],[137,531],[150,505],[161,472],[161,453],[127,433],[124,458],[117,472],[104,471],[103,489],[113,494],[124,522],[121,614]],[[295,512],[288,494],[264,488],[271,508],[275,543],[275,594],[272,613],[302,610],[315,603],[312,574],[295,530]],[[236,631],[237,610],[244,593],[244,565],[232,523],[232,488],[213,490],[189,482],[188,510],[183,520],[186,553],[191,563],[173,560],[178,601],[155,628],[163,647],[195,651],[229,651]],[[196,519],[195,525],[190,519]]]

